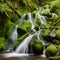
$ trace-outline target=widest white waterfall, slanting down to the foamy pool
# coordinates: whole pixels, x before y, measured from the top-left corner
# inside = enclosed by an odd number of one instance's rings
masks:
[[[25,38],[24,40],[23,40],[23,42],[17,47],[17,49],[16,49],[16,53],[25,53],[25,51],[26,51],[26,49],[27,49],[27,47],[28,47],[28,44],[29,44],[29,42],[31,41],[31,39],[32,39],[32,37],[33,37],[34,35],[29,35],[27,38]]]

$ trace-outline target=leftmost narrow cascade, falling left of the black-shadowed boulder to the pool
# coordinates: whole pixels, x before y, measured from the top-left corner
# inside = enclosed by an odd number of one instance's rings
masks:
[[[12,32],[12,34],[9,37],[9,40],[11,40],[11,44],[9,45],[9,49],[6,50],[5,52],[13,51],[13,44],[18,38],[17,27],[18,27],[18,25],[15,25],[14,31]]]

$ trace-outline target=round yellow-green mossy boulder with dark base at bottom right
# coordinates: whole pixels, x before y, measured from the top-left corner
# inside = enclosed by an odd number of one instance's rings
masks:
[[[54,46],[54,45],[50,45],[46,48],[46,56],[49,57],[49,56],[55,56],[57,53],[57,48]]]

